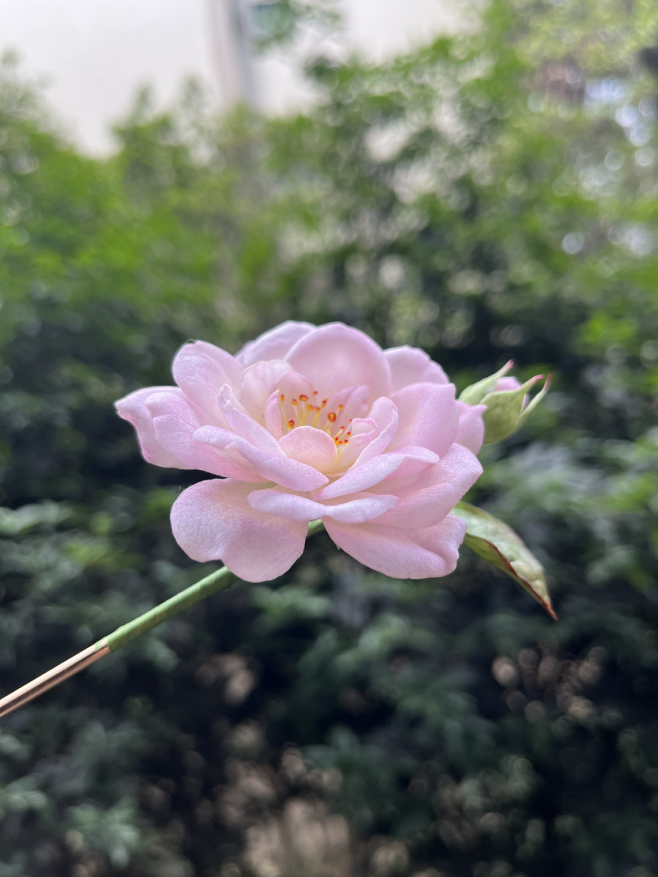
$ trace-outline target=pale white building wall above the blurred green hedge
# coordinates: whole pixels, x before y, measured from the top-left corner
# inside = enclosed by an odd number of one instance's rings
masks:
[[[0,0],[0,53],[13,50],[24,75],[46,84],[46,98],[68,134],[91,153],[111,150],[110,126],[135,90],[152,84],[159,103],[196,76],[218,105],[250,93],[268,112],[310,99],[279,52],[254,64],[254,79],[226,35],[221,4],[235,0]],[[340,49],[381,60],[461,20],[457,0],[341,0]],[[312,39],[312,38],[311,38]],[[230,55],[233,52],[233,57]]]

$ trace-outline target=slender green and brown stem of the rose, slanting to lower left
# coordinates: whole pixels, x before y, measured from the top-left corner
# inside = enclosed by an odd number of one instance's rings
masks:
[[[311,524],[309,524],[309,535],[318,532],[321,528],[322,521],[311,521]],[[14,709],[18,709],[18,707],[22,707],[25,703],[34,700],[35,697],[39,697],[48,688],[54,688],[55,685],[59,685],[60,682],[68,679],[69,676],[80,673],[85,667],[90,667],[97,660],[104,658],[106,654],[115,652],[122,645],[141,636],[142,633],[146,633],[146,631],[150,631],[159,624],[162,624],[162,622],[167,621],[168,618],[178,615],[179,612],[188,609],[196,602],[199,602],[199,600],[204,600],[205,597],[214,594],[216,591],[227,588],[233,581],[236,581],[236,576],[229,572],[226,567],[221,567],[214,573],[206,575],[201,581],[190,585],[190,588],[185,588],[180,594],[176,594],[165,600],[165,602],[161,602],[158,606],[154,606],[153,609],[148,610],[143,615],[128,622],[128,624],[122,624],[109,636],[99,639],[97,643],[89,645],[88,648],[78,652],[73,658],[63,661],[57,667],[53,667],[52,670],[48,670],[47,673],[28,682],[22,688],[12,691],[11,695],[3,697],[0,700],[0,718],[9,715]]]

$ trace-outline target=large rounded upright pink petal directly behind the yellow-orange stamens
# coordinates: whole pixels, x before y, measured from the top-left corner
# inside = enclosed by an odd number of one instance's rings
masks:
[[[286,359],[321,396],[365,384],[370,398],[390,395],[390,368],[375,341],[342,323],[320,326],[297,341]]]

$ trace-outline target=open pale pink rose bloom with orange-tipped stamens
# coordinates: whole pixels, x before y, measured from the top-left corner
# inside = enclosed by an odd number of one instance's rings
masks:
[[[426,353],[383,351],[341,323],[284,323],[236,356],[176,354],[177,387],[120,399],[156,466],[219,477],[184,490],[174,536],[193,560],[267,581],[321,518],[356,560],[397,578],[446,575],[466,531],[450,515],[482,472],[483,405],[455,401]]]

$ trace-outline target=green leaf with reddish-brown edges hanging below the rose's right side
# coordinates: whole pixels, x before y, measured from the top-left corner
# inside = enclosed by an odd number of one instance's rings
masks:
[[[455,511],[468,524],[464,545],[518,581],[521,588],[557,621],[548,595],[544,569],[511,527],[488,511],[469,503],[457,503]]]

